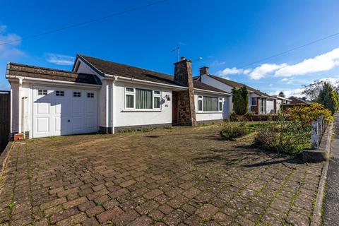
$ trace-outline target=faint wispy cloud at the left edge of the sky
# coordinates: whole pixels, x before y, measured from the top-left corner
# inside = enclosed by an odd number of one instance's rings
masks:
[[[6,33],[6,25],[0,25],[0,59],[7,61],[13,57],[24,56],[25,54],[16,46],[21,43],[21,37],[16,34]],[[1,44],[6,43],[8,44]]]

